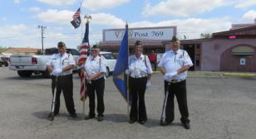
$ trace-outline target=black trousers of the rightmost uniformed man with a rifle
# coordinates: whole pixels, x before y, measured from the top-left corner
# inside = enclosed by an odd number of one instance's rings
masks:
[[[183,123],[190,122],[185,80],[179,83],[169,83],[165,81],[164,115],[162,115],[162,118],[164,116],[166,122],[172,122],[175,119],[175,96],[180,109],[180,121]]]

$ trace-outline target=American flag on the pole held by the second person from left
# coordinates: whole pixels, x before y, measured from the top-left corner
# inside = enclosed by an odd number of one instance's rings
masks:
[[[80,58],[78,60],[79,66],[82,66],[85,64],[86,58],[90,54],[89,49],[90,49],[90,46],[89,46],[89,22],[86,22],[86,32],[85,32],[84,39],[82,40]],[[88,93],[86,92],[86,85],[85,85],[86,79],[83,74],[81,74],[80,81],[81,81],[80,99],[81,99],[81,101],[84,101],[84,100],[86,100]]]

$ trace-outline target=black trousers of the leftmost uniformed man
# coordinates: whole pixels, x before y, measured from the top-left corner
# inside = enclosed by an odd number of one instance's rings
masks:
[[[57,85],[57,94],[56,94],[56,105],[54,113],[59,113],[60,111],[60,96],[63,92],[66,109],[68,113],[76,113],[76,109],[74,106],[74,99],[73,99],[73,77],[72,74],[63,75],[57,77],[57,84],[56,84],[56,76],[52,76],[52,96],[54,95],[54,89]],[[53,97],[52,97],[53,98]]]

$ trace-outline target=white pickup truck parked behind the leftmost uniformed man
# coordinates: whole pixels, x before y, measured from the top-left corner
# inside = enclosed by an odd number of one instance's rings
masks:
[[[66,49],[67,53],[71,53],[76,60],[79,59],[79,51],[75,49]],[[45,78],[49,78],[50,74],[47,71],[47,61],[57,53],[57,48],[50,48],[45,50],[45,55],[11,55],[10,56],[10,70],[17,70],[20,77],[31,77],[32,74],[41,74]],[[74,70],[79,70],[76,66]]]

